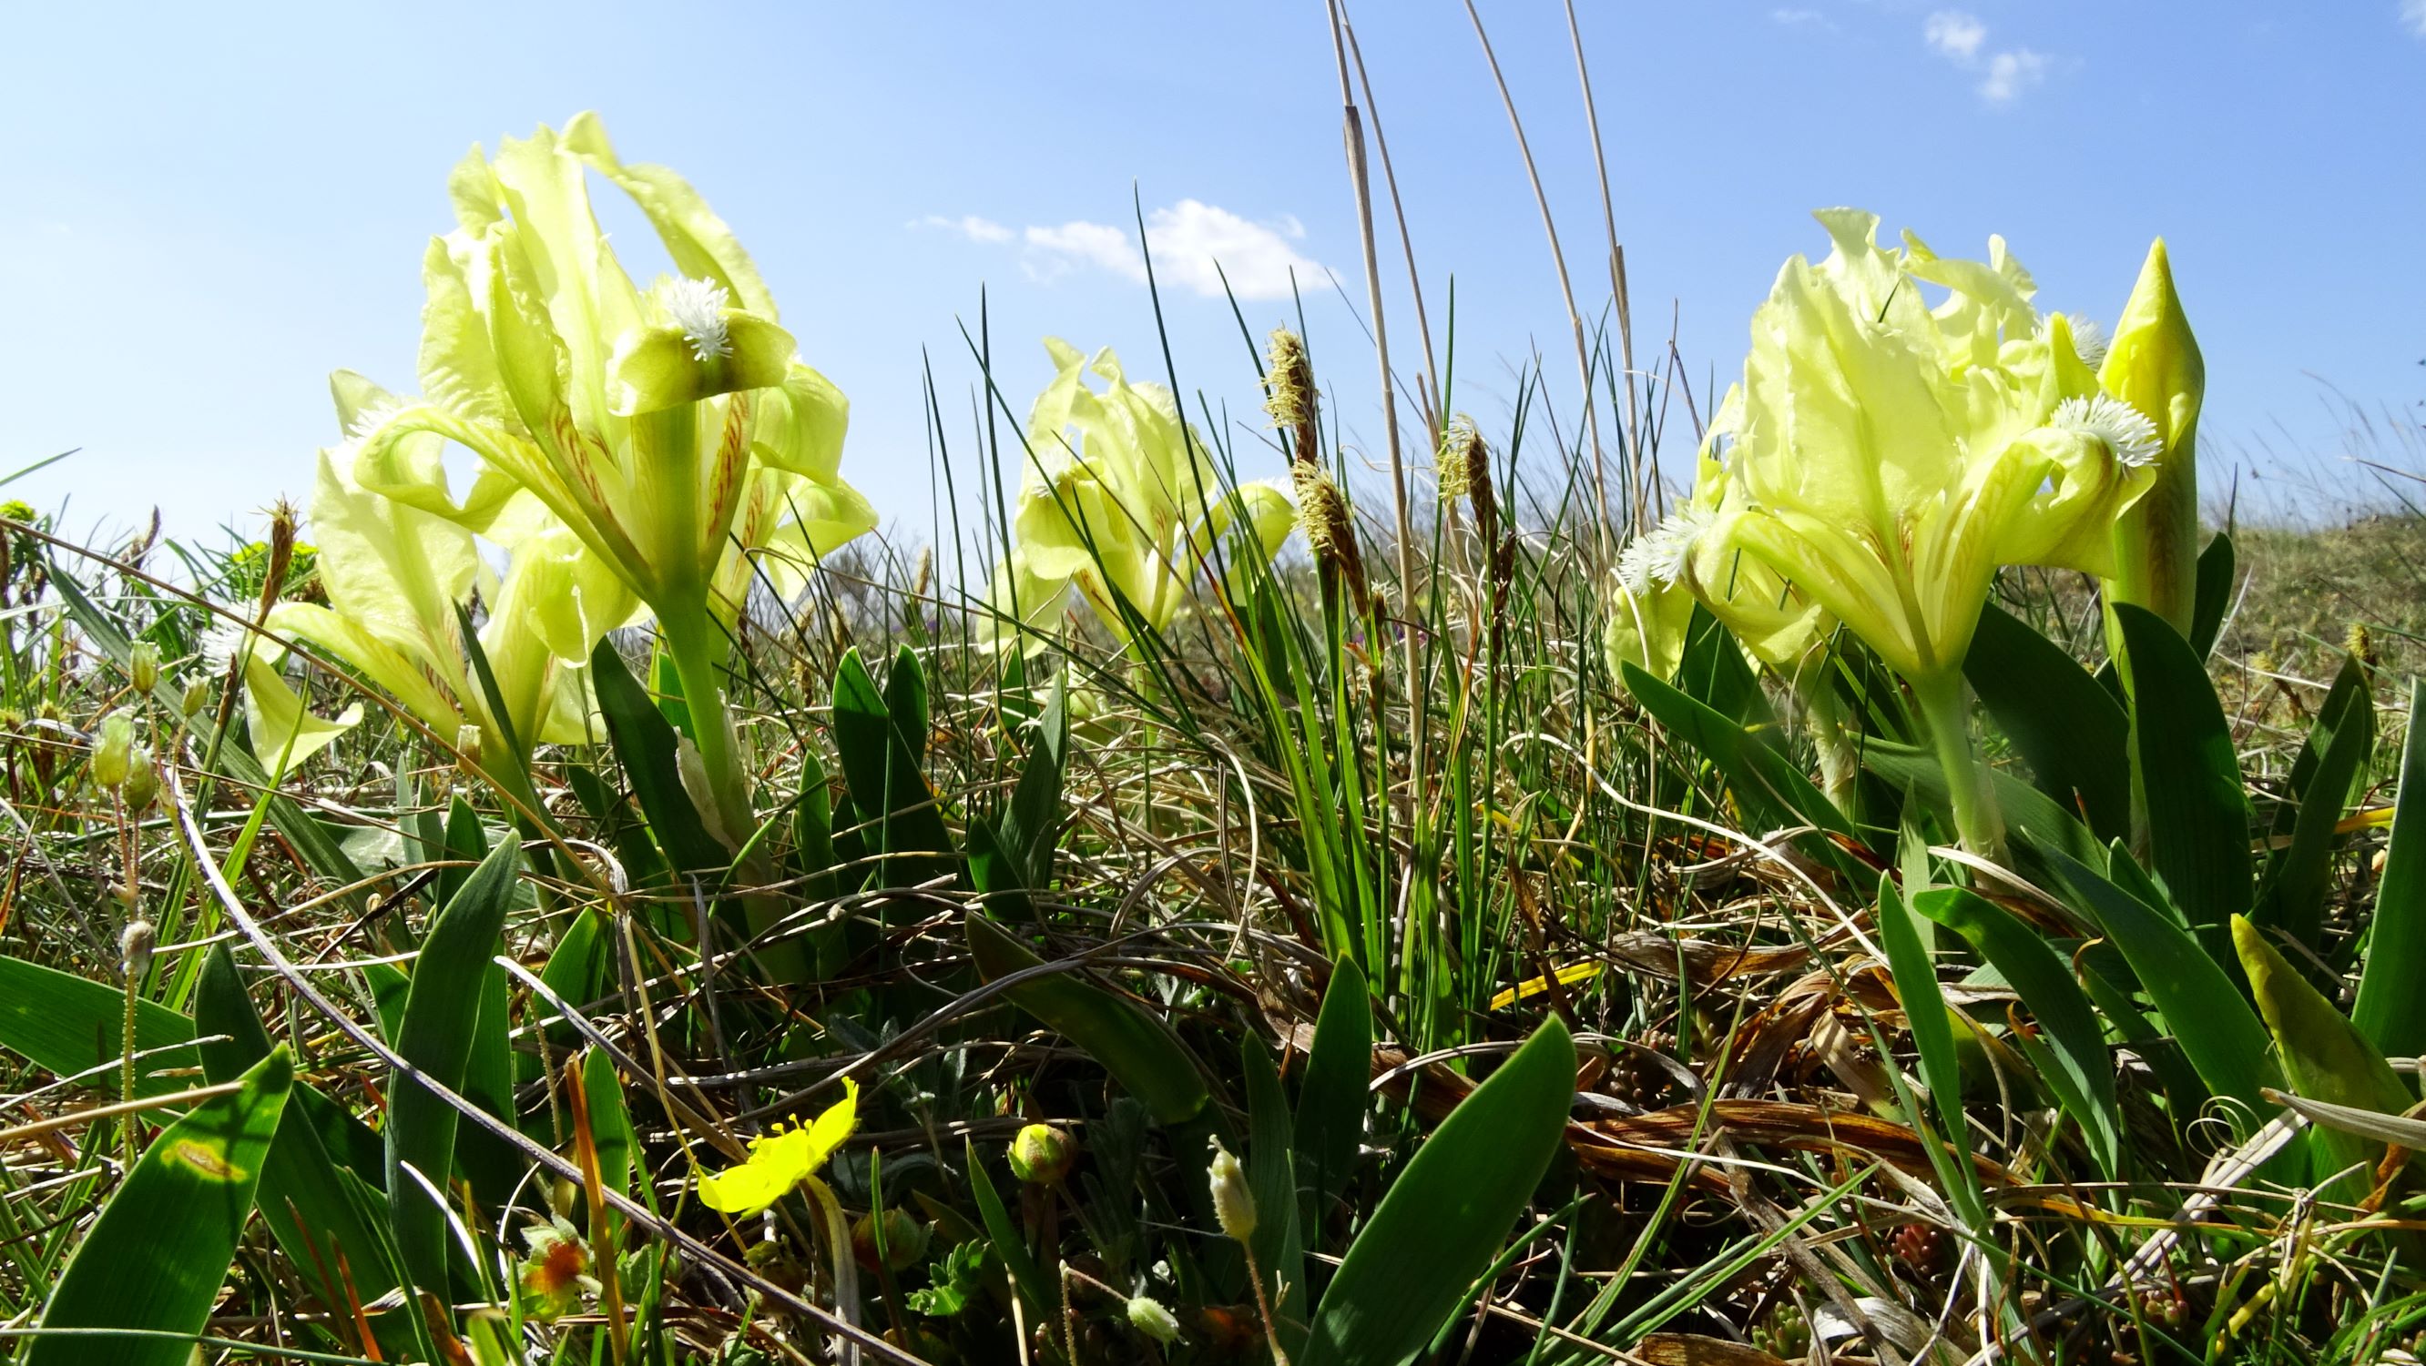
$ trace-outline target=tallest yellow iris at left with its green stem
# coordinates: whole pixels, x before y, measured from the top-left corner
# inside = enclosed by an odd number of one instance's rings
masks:
[[[631,281],[590,209],[604,175],[679,277]],[[876,527],[839,478],[849,405],[805,366],[750,255],[682,177],[623,165],[594,116],[478,148],[449,192],[456,230],[422,279],[422,398],[354,427],[364,490],[492,534],[536,500],[648,604],[684,682],[725,830],[754,827],[716,667],[750,556],[776,582]],[[454,442],[480,476],[454,497],[415,446]]]

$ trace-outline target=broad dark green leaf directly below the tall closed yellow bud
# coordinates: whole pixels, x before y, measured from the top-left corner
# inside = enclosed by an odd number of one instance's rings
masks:
[[[2249,910],[2249,793],[2208,667],[2162,616],[2115,604],[2132,679],[2132,784],[2157,876],[2198,941],[2234,963],[2227,922]],[[2251,1092],[2254,1094],[2254,1092]]]

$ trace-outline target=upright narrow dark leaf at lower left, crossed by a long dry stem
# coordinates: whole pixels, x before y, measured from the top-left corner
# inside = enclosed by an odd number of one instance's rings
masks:
[[[480,1034],[480,997],[471,987],[500,951],[505,912],[514,898],[519,844],[497,849],[473,869],[463,890],[439,910],[412,963],[412,990],[405,1019],[395,1031],[395,1051],[429,1080],[451,1092],[463,1089]],[[410,1165],[432,1186],[446,1191],[456,1169],[456,1111],[427,1087],[395,1077],[388,1082],[388,1211],[403,1269],[412,1286],[446,1293],[446,1216],[429,1201],[420,1182],[403,1174]]]

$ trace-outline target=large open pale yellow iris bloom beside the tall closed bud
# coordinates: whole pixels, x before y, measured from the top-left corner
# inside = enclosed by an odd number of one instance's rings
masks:
[[[1970,262],[1909,233],[1885,250],[1873,214],[1817,218],[1834,250],[1788,260],[1752,320],[1725,456],[1744,500],[1713,536],[1907,679],[1953,677],[1999,565],[2108,565],[2154,449],[2001,238]]]

